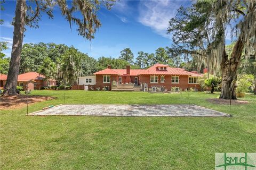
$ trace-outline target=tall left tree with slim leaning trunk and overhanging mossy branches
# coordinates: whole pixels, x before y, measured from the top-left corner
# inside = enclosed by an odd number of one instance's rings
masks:
[[[20,56],[23,43],[23,35],[25,25],[38,28],[38,21],[41,20],[43,13],[46,13],[49,18],[53,18],[53,7],[59,6],[61,14],[69,22],[70,28],[72,24],[77,25],[78,34],[85,39],[91,40],[94,38],[94,33],[101,23],[97,17],[97,11],[101,5],[110,8],[115,0],[109,1],[68,1],[62,0],[45,0],[45,1],[17,1],[15,17],[14,17],[14,32],[12,54],[10,61],[10,69],[7,75],[7,81],[4,87],[4,95],[16,95],[16,86],[20,67]],[[35,6],[35,8],[34,8]],[[77,12],[81,13],[81,17],[77,16]]]

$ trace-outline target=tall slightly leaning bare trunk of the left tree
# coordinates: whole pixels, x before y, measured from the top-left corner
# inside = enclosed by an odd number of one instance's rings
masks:
[[[23,43],[23,33],[26,18],[26,0],[17,1],[15,10],[14,32],[12,41],[12,55],[4,95],[17,95],[16,86],[20,70],[20,55]]]

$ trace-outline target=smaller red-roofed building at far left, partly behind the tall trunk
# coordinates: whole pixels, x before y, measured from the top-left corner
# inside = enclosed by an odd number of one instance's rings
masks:
[[[1,74],[1,87],[4,87],[7,75],[6,77],[3,76],[2,81],[2,75]],[[2,86],[3,85],[3,86]],[[41,87],[44,86],[56,86],[55,80],[49,80],[48,82],[45,81],[45,77],[42,74],[39,74],[37,72],[28,72],[18,75],[18,82],[17,86],[23,87],[24,90],[26,90],[26,85],[28,86],[28,90],[39,90]]]

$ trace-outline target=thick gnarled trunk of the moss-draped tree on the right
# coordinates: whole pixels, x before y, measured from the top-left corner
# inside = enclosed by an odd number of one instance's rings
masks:
[[[233,48],[230,58],[226,54],[226,50],[224,48],[224,52],[222,54],[221,60],[221,74],[222,74],[222,86],[221,86],[221,99],[237,99],[236,98],[236,80],[237,80],[237,68],[239,66],[239,62],[242,55],[242,50],[244,47],[244,43],[242,41],[242,33],[239,36],[236,44]]]

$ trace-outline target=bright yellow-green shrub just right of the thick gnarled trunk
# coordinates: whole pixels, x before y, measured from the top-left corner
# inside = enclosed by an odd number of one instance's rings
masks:
[[[254,77],[252,74],[239,75],[237,80],[236,92],[249,92],[249,88],[252,86],[253,80]]]

